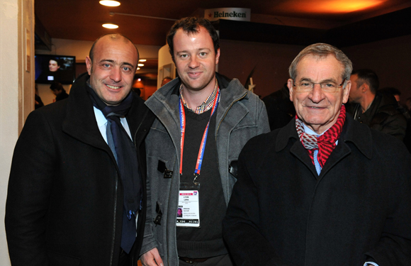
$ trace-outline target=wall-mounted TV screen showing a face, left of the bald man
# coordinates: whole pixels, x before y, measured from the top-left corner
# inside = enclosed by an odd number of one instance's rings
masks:
[[[35,82],[72,84],[76,78],[76,57],[69,55],[35,55]]]

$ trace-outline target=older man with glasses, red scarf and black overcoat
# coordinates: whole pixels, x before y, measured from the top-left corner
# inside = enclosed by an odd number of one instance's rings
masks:
[[[240,154],[223,221],[236,265],[410,265],[411,156],[346,116],[351,71],[324,43],[291,63],[295,119]]]

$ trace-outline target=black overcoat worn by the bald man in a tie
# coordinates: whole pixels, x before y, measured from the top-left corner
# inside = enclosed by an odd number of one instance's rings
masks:
[[[68,99],[30,113],[13,154],[6,201],[12,265],[117,265],[123,184],[101,136],[82,74]],[[154,115],[142,99],[126,116],[143,182],[142,211],[132,253],[140,251],[145,221],[144,139]]]

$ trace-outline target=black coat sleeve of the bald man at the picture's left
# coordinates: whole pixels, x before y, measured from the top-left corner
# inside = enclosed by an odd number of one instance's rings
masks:
[[[55,145],[43,113],[27,118],[13,153],[6,200],[6,237],[12,265],[48,265],[46,215],[55,174]]]

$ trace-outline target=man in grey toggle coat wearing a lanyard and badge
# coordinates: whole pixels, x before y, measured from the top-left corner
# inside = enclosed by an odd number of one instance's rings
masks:
[[[220,49],[210,21],[177,21],[167,43],[179,78],[146,101],[157,119],[146,139],[142,264],[232,265],[221,223],[242,147],[269,132],[266,109],[237,79],[215,72]]]

